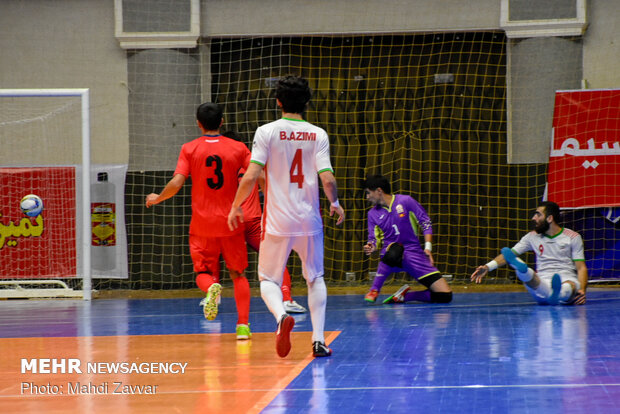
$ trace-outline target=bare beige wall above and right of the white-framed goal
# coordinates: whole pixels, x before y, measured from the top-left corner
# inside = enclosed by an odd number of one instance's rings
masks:
[[[89,88],[92,161],[127,163],[127,58],[112,1],[2,0],[0,88]]]

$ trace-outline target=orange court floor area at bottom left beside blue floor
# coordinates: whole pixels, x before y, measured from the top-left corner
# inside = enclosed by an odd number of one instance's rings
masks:
[[[338,334],[326,332],[327,342]],[[257,413],[313,360],[310,332],[291,340],[291,353],[279,358],[273,333],[249,341],[235,334],[4,338],[0,406],[5,413]]]

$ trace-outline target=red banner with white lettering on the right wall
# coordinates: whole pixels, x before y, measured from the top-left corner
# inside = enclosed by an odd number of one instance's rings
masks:
[[[620,90],[555,95],[547,198],[562,208],[620,206]]]

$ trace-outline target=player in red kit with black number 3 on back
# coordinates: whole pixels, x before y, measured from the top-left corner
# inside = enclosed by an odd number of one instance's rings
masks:
[[[241,142],[220,135],[222,109],[215,103],[204,103],[196,111],[203,135],[183,145],[172,179],[160,194],[149,194],[146,206],[159,204],[174,196],[188,177],[192,177],[192,219],[189,245],[196,284],[206,292],[204,315],[217,316],[222,290],[219,284],[219,258],[233,280],[237,304],[237,339],[249,339],[250,285],[244,271],[248,265],[243,226],[230,230],[228,212],[237,191],[239,174],[250,161],[250,151]]]

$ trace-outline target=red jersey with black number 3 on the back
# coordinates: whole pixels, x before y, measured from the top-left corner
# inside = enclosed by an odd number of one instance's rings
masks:
[[[222,237],[244,231],[228,228],[239,174],[250,162],[245,144],[222,135],[203,135],[183,145],[174,174],[192,178],[192,220],[189,233]]]

